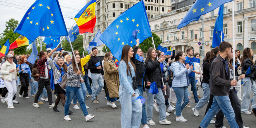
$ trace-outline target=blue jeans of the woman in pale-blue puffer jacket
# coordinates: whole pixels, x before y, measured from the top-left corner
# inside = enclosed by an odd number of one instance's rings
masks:
[[[185,106],[187,105],[187,103],[189,102],[189,98],[188,98],[188,90],[187,90],[187,86],[185,87],[172,87],[172,89],[175,92],[176,98],[177,98],[177,102],[176,102],[176,106],[175,106],[175,114],[176,116],[181,116],[181,112],[182,110],[185,108]],[[183,99],[184,97],[184,99]],[[182,103],[182,99],[183,99],[183,103]]]

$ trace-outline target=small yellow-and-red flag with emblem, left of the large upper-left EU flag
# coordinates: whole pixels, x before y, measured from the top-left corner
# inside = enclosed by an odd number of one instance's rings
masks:
[[[18,39],[16,39],[11,45],[9,49],[14,49],[17,47],[21,47],[21,46],[25,46],[25,45],[29,45],[32,42],[30,40],[28,40],[25,36],[20,35]]]

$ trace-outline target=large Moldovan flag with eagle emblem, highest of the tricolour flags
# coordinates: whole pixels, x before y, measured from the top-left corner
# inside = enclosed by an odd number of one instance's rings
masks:
[[[95,6],[96,0],[90,0],[74,17],[75,20],[78,18],[76,24],[81,34],[85,32],[93,33],[96,23]]]

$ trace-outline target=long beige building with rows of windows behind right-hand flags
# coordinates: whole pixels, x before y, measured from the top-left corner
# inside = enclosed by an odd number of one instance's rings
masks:
[[[242,54],[245,47],[252,48],[256,55],[256,0],[237,0],[224,4],[224,22],[223,32],[224,41],[233,44],[233,28],[232,28],[232,9],[234,10],[235,23],[235,49],[239,49]],[[182,18],[186,15],[192,5],[185,6],[180,9],[170,11],[159,16],[149,19],[152,32],[156,33],[162,40],[161,45],[170,48],[173,44],[175,51],[185,51],[191,47],[194,53],[198,52],[202,55],[202,32],[204,33],[204,54],[212,49],[212,38],[215,20],[218,8],[203,15],[204,31],[202,31],[202,18],[193,21],[187,26],[177,29]]]

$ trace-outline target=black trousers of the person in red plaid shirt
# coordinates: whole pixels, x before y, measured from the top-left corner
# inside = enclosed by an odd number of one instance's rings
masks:
[[[38,79],[38,91],[37,91],[37,94],[35,94],[34,103],[38,102],[39,96],[42,94],[44,87],[47,90],[47,97],[48,97],[49,105],[51,105],[53,103],[52,89],[51,89],[50,85],[51,85],[50,79],[42,79],[42,78]]]

